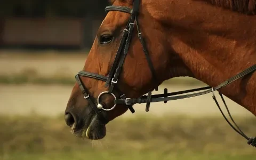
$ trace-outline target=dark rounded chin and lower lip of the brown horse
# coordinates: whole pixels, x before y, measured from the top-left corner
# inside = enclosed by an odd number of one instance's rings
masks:
[[[106,133],[106,125],[99,120],[97,115],[95,115],[87,129],[83,130],[82,138],[99,140],[103,139],[106,136]]]

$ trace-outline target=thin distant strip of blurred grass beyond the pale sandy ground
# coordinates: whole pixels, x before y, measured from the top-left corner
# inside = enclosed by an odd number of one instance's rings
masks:
[[[51,76],[45,76],[38,73],[33,68],[23,69],[20,73],[0,74],[0,84],[39,84],[39,85],[74,85],[75,75],[67,75],[58,72]],[[177,77],[164,82],[172,85],[202,85],[201,81],[190,77]]]

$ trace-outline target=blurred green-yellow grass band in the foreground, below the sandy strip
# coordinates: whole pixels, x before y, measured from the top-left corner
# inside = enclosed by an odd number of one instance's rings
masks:
[[[236,118],[255,135],[255,118]],[[100,141],[79,139],[59,117],[0,116],[0,159],[255,159],[222,117],[119,117]]]

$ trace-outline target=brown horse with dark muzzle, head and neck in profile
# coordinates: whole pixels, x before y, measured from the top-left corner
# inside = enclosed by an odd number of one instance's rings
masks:
[[[254,0],[141,0],[138,9],[133,0],[111,2],[65,111],[78,137],[101,139],[109,121],[133,111],[121,95],[139,102],[179,76],[215,87],[256,64]],[[256,73],[218,91],[256,116]]]

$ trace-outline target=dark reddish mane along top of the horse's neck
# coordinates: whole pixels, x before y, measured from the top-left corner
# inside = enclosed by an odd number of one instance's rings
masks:
[[[255,0],[203,0],[217,7],[244,14],[255,14]]]

